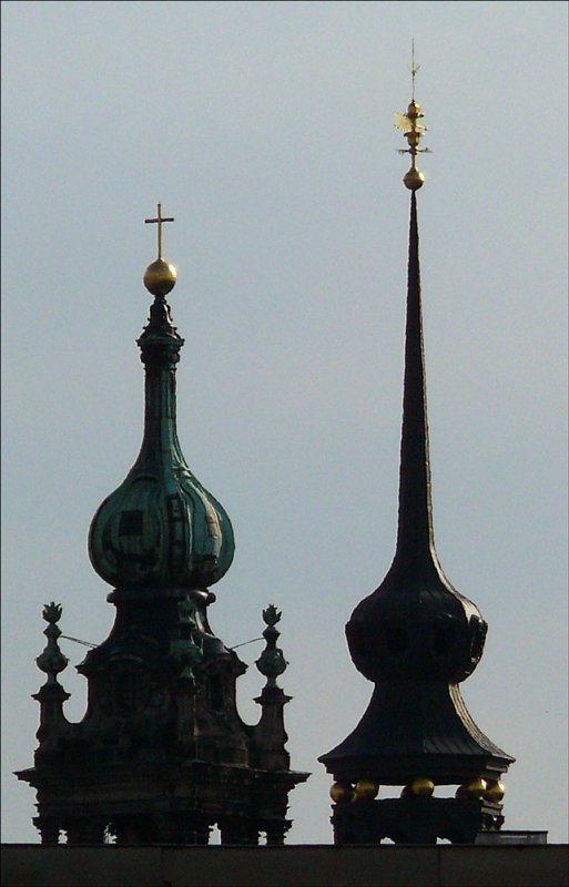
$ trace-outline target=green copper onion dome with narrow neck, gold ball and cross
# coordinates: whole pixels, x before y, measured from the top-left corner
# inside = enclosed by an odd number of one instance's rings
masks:
[[[99,575],[124,592],[181,597],[217,582],[234,554],[231,521],[190,470],[177,439],[175,368],[184,339],[173,326],[165,295],[176,272],[162,257],[146,268],[154,296],[138,345],[145,369],[144,434],[139,457],[121,486],[99,507],[89,531],[89,555]]]

